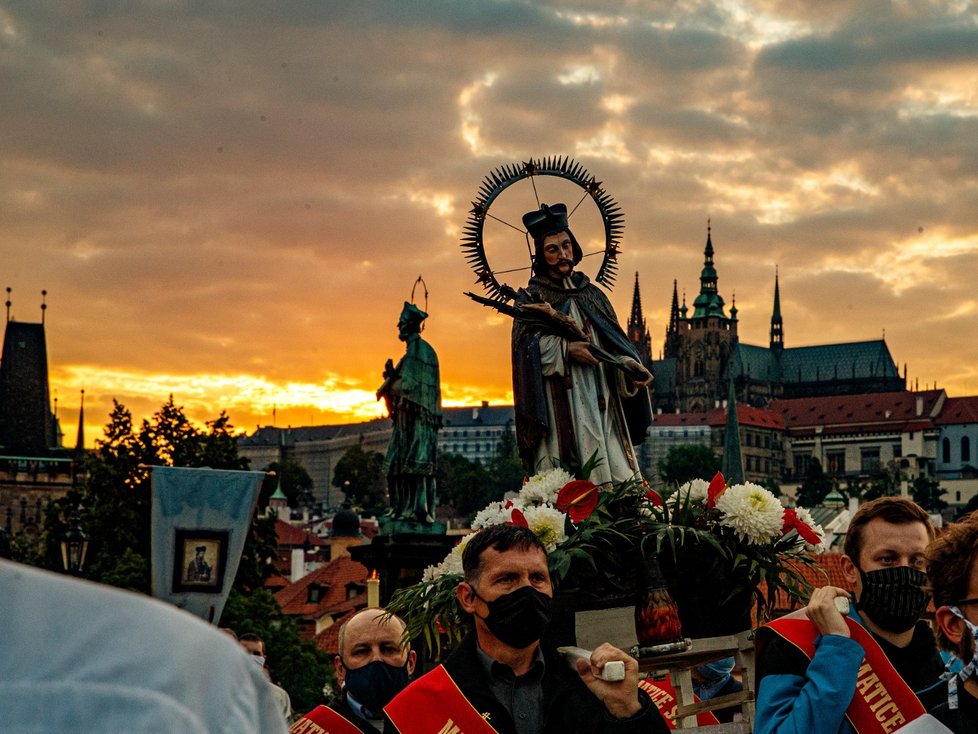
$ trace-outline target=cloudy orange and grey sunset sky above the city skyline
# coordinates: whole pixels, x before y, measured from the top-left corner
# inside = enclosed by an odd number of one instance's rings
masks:
[[[48,291],[68,445],[82,388],[88,445],[113,398],[248,432],[380,416],[419,274],[444,402],[508,402],[459,238],[487,173],[543,156],[621,205],[612,301],[624,323],[638,272],[656,356],[710,219],[743,341],[777,268],[787,346],[885,331],[911,384],[978,393],[971,2],[13,2],[0,89],[0,287],[20,321]],[[487,248],[526,264],[512,230]]]

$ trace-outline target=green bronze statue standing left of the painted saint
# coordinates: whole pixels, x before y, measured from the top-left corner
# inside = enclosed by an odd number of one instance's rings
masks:
[[[390,493],[388,516],[424,525],[435,521],[435,452],[441,428],[441,383],[438,356],[421,338],[421,323],[428,314],[404,303],[397,322],[397,336],[407,350],[394,366],[388,359],[384,384],[377,398],[384,398],[394,421],[384,471]]]

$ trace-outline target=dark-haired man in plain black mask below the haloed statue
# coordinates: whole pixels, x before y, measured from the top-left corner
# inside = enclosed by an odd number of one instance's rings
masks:
[[[408,686],[384,709],[385,733],[638,734],[667,732],[638,688],[638,663],[604,644],[570,670],[541,640],[553,587],[547,555],[528,528],[479,531],[462,554],[456,595],[475,628],[443,665]],[[597,677],[621,661],[625,679]]]

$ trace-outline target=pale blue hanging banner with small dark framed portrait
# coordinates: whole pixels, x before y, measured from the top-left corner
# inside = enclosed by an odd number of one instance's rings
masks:
[[[153,467],[153,596],[217,624],[264,472]]]

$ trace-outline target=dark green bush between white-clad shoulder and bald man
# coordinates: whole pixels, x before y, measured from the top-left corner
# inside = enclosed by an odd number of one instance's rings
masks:
[[[267,590],[256,589],[247,596],[232,591],[221,626],[238,635],[254,633],[265,641],[272,680],[289,692],[293,710],[309,711],[325,702],[324,688],[336,683],[329,656],[312,640],[299,637],[296,623],[282,613]]]

